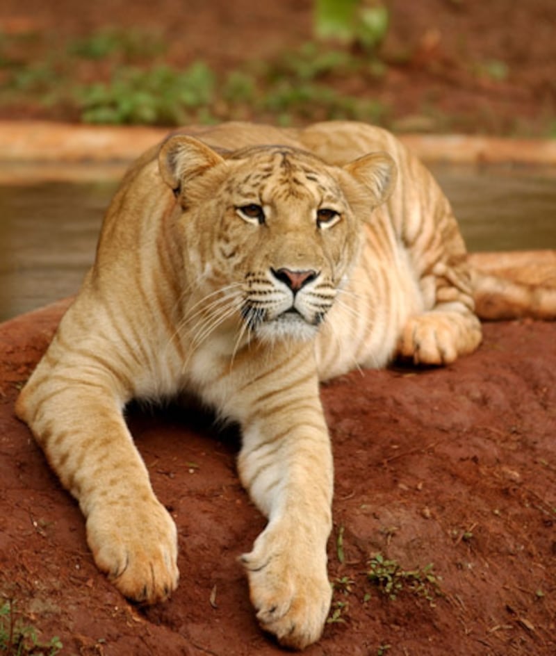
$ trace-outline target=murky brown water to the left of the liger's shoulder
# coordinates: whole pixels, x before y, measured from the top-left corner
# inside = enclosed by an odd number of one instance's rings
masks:
[[[0,186],[0,321],[76,293],[115,187]]]

